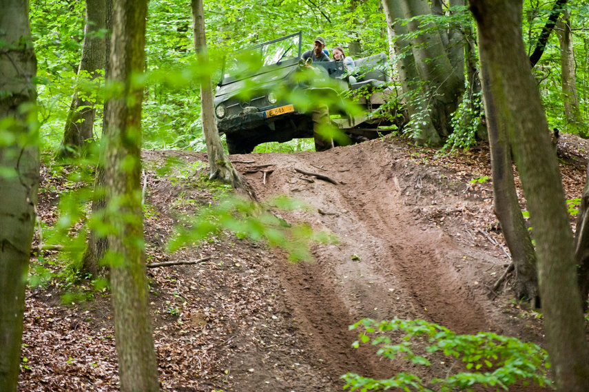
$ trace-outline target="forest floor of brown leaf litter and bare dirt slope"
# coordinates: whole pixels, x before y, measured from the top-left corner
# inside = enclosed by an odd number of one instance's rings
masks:
[[[581,196],[588,151],[575,136],[559,141],[568,199]],[[287,195],[311,206],[276,214],[338,237],[311,245],[314,260],[298,263],[232,234],[167,253],[178,216],[219,196],[199,180],[207,173],[205,154],[145,151],[143,158],[148,262],[205,259],[147,270],[165,391],[341,391],[347,372],[388,378],[413,371],[430,380],[453,367],[443,359],[431,367],[393,363],[373,347],[354,349],[358,332],[349,325],[361,318],[420,318],[457,333],[493,331],[544,345],[541,315],[513,300],[513,276],[491,289],[510,260],[493,215],[484,143],[446,156],[404,138],[319,153],[231,156],[260,200]],[[183,163],[158,175],[169,158]],[[52,173],[43,167],[45,225],[55,223],[66,186]],[[47,252],[46,265],[54,267],[48,260],[58,256]],[[71,289],[92,292],[87,282],[59,280],[28,290],[21,391],[118,389],[110,294],[64,305],[62,294]]]

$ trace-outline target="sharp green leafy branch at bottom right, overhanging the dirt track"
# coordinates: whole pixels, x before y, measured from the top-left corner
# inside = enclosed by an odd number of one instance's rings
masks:
[[[404,391],[450,392],[455,390],[473,391],[477,385],[485,388],[508,389],[510,384],[523,381],[535,382],[539,386],[550,386],[546,369],[550,368],[546,351],[533,343],[524,343],[517,338],[479,332],[476,335],[457,335],[455,332],[424,320],[385,320],[377,322],[363,319],[350,326],[350,329],[362,328],[360,341],[380,347],[378,355],[391,360],[400,358],[414,365],[430,366],[428,353],[443,353],[448,361],[446,378],[433,378],[429,382],[411,373],[397,373],[393,378],[374,380],[358,374],[347,373],[342,378],[347,383],[344,389],[351,391],[381,391],[392,387]],[[391,332],[400,333],[397,344],[393,344]],[[413,344],[426,347],[424,355],[413,352]],[[354,342],[359,347],[360,342]],[[466,370],[456,369],[457,362],[462,362]],[[461,367],[457,367],[461,368]]]

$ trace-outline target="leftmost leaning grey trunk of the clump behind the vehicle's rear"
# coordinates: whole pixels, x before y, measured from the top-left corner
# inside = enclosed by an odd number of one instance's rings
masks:
[[[410,43],[403,38],[409,33],[409,28],[400,22],[402,19],[400,4],[397,0],[382,0],[382,7],[386,15],[386,23],[389,25],[389,37],[397,56],[397,70],[403,94],[406,97],[407,112],[413,122],[411,126],[416,130],[413,133],[413,139],[417,145],[441,145],[442,139],[433,126],[429,111],[426,110],[427,97],[417,72]],[[424,107],[419,107],[418,102],[423,103]]]

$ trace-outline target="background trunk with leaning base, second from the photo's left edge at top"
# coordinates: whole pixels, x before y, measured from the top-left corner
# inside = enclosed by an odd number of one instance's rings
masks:
[[[99,77],[99,70],[104,70],[105,65],[105,39],[96,33],[106,28],[106,1],[86,0],[86,23],[84,27],[84,41],[82,46],[82,59],[78,69],[78,75],[85,72],[92,80]],[[94,139],[94,115],[96,108],[94,102],[83,98],[81,87],[78,87],[72,98],[70,112],[65,120],[63,140],[56,152],[56,158],[71,158],[76,156],[85,145]]]

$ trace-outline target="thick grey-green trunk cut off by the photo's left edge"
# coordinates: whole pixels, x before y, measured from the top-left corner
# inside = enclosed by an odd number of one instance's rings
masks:
[[[39,187],[37,74],[26,0],[0,2],[0,390],[17,391]],[[13,141],[10,142],[10,138]]]

